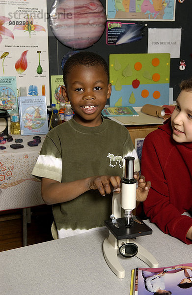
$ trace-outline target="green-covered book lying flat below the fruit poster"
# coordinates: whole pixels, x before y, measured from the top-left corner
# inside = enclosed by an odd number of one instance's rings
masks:
[[[133,107],[105,107],[102,115],[106,117],[116,116],[138,116]]]

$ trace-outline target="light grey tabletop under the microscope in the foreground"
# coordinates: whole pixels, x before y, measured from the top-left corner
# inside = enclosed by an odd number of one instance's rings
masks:
[[[150,236],[137,242],[159,266],[192,263],[192,245],[165,235],[154,224]],[[110,270],[103,256],[108,230],[99,230],[0,252],[0,294],[3,295],[129,295],[131,269],[146,267],[137,257],[119,257],[125,278]]]

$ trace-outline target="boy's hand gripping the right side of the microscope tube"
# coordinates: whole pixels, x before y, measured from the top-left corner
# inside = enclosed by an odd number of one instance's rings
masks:
[[[134,177],[137,179],[138,182],[138,188],[136,190],[136,200],[143,202],[147,199],[147,195],[151,187],[151,181],[146,182],[145,177],[143,175],[139,177],[139,173],[137,171],[134,172]]]

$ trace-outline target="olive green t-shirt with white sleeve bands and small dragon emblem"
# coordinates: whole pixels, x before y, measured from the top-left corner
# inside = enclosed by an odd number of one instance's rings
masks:
[[[137,153],[124,126],[103,119],[97,127],[86,127],[72,118],[47,134],[32,175],[59,182],[99,175],[123,177],[125,156],[136,158],[135,171],[139,171]],[[104,221],[110,219],[111,197],[89,190],[71,201],[53,205],[58,232],[104,226]]]

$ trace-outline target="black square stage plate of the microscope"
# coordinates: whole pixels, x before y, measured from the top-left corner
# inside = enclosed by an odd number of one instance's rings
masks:
[[[113,225],[111,220],[105,220],[105,225],[117,240],[151,235],[152,229],[150,229],[150,227],[148,227],[148,225],[146,225],[140,218],[137,217],[137,220],[140,221],[141,224],[131,219],[131,224],[127,226],[125,224],[125,217],[123,217],[117,218],[119,228]]]

